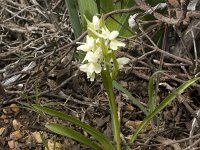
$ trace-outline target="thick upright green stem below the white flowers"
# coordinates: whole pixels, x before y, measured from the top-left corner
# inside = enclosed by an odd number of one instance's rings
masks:
[[[120,125],[118,120],[117,104],[115,102],[115,94],[113,90],[112,78],[110,76],[110,72],[107,70],[102,71],[102,79],[103,79],[103,85],[108,94],[109,107],[111,110],[112,125],[114,129],[114,138],[117,144],[117,150],[121,150]]]

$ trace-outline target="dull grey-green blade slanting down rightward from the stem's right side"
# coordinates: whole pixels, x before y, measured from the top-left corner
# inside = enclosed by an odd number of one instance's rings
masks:
[[[130,92],[128,92],[125,88],[123,88],[119,83],[117,83],[115,80],[113,81],[113,86],[123,92],[124,94],[126,94],[128,96],[128,98],[132,101],[133,104],[135,104],[137,107],[139,107],[144,113],[145,115],[148,114],[147,109],[136,99],[134,98]]]

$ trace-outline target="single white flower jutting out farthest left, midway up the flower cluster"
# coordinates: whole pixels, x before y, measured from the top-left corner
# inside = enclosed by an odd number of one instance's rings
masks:
[[[84,52],[91,51],[94,48],[94,39],[92,37],[86,36],[86,43],[77,47],[77,50],[82,50]]]

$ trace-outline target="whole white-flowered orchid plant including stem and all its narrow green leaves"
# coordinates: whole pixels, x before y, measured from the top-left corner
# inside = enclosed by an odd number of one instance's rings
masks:
[[[134,17],[132,18],[134,19]],[[121,139],[120,139],[120,123],[118,120],[117,113],[117,104],[115,102],[114,87],[125,93],[133,104],[138,106],[146,115],[142,123],[138,126],[135,133],[132,135],[130,142],[134,142],[141,132],[141,130],[150,122],[150,120],[155,117],[160,111],[162,111],[170,102],[172,102],[177,95],[184,92],[189,86],[195,83],[197,80],[200,80],[200,77],[186,81],[180,85],[175,92],[169,93],[169,95],[158,105],[152,106],[154,102],[154,93],[153,93],[153,77],[149,81],[149,108],[148,112],[146,107],[140,104],[140,102],[135,99],[131,93],[124,89],[120,84],[114,81],[117,78],[119,69],[122,69],[125,64],[130,60],[125,57],[116,58],[116,52],[120,47],[125,47],[123,42],[117,40],[119,35],[118,31],[109,31],[106,27],[103,17],[98,18],[97,16],[93,17],[92,22],[87,20],[87,31],[88,35],[86,36],[85,43],[80,44],[77,49],[79,51],[85,52],[85,57],[80,65],[80,70],[87,74],[87,78],[90,81],[94,81],[96,75],[101,75],[104,88],[107,92],[109,107],[111,111],[112,125],[113,125],[113,134],[115,143],[111,142],[103,133],[98,131],[96,128],[91,127],[90,125],[80,121],[76,117],[62,113],[60,111],[50,109],[41,104],[33,104],[33,108],[45,114],[48,114],[53,117],[58,117],[63,121],[70,122],[80,128],[82,128],[86,133],[91,135],[93,138],[83,135],[81,132],[78,132],[70,127],[58,123],[48,122],[45,127],[51,130],[54,133],[57,133],[62,136],[72,138],[82,144],[87,145],[91,149],[95,150],[121,150]],[[134,21],[133,21],[134,23]],[[37,86],[36,86],[37,87]],[[38,97],[38,90],[36,88],[36,99]]]

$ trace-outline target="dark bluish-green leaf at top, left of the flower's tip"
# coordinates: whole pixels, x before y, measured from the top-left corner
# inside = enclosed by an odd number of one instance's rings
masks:
[[[82,32],[82,26],[79,20],[76,0],[65,0],[68,8],[69,19],[74,31],[75,38],[79,37]]]

